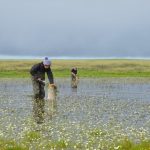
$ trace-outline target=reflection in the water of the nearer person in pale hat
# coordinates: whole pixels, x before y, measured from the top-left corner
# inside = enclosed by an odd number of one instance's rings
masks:
[[[33,99],[33,117],[38,124],[44,122],[44,99]]]

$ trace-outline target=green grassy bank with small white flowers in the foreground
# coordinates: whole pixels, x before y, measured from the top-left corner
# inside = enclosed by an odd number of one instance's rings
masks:
[[[29,150],[29,149],[101,149],[101,150],[150,150],[150,141],[140,141],[135,143],[128,138],[119,139],[108,143],[102,141],[101,131],[90,132],[86,144],[74,142],[65,138],[59,140],[48,140],[41,136],[39,132],[28,132],[21,140],[15,141],[0,138],[0,149],[2,150]]]

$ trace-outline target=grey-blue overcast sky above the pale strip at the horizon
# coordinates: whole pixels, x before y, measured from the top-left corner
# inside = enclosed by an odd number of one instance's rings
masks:
[[[150,0],[0,0],[0,55],[150,57]]]

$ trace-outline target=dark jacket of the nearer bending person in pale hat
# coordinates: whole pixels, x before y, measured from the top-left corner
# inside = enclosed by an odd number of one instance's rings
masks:
[[[50,84],[53,84],[54,79],[51,68],[49,67],[48,69],[45,69],[43,62],[34,65],[30,70],[30,74],[35,78],[35,80],[38,78],[45,80],[45,72],[47,73]]]

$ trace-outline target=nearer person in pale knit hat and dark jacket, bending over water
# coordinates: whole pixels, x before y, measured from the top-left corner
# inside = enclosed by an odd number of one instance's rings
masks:
[[[44,99],[45,97],[45,73],[47,73],[50,85],[55,87],[53,73],[50,66],[51,61],[48,59],[48,57],[45,57],[43,62],[35,64],[30,70],[34,99]]]

